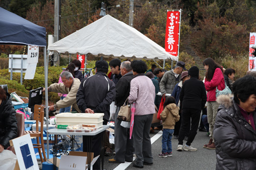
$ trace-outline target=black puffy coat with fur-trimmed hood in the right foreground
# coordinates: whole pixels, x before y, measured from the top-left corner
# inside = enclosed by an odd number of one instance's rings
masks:
[[[256,131],[246,121],[232,95],[220,95],[214,125],[216,169],[256,169]],[[256,112],[253,113],[254,124]]]

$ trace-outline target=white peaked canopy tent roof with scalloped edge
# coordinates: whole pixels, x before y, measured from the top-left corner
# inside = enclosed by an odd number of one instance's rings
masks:
[[[48,45],[48,50],[114,58],[178,60],[150,38],[110,15]]]

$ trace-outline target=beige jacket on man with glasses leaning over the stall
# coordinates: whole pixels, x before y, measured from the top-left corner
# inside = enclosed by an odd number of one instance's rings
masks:
[[[48,88],[48,91],[67,94],[66,98],[64,98],[63,100],[59,100],[56,103],[57,108],[65,108],[72,105],[73,108],[80,113],[81,110],[78,108],[76,103],[76,93],[78,91],[79,86],[80,86],[80,80],[74,78],[71,88],[67,88],[63,83],[59,83],[59,84],[54,83],[50,85],[50,87]]]

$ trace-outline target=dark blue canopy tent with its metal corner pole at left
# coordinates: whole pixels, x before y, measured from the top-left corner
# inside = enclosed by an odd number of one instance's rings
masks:
[[[45,63],[45,87],[48,87],[48,62],[46,58],[46,28],[34,23],[0,7],[0,44],[6,45],[36,45],[44,47]],[[48,106],[48,90],[46,88],[46,106]],[[48,109],[47,129],[48,129]],[[47,135],[47,150],[49,151],[49,140]],[[49,152],[47,152],[49,159]]]

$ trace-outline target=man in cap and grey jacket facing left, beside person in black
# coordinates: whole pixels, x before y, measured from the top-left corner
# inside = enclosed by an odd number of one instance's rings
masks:
[[[165,97],[166,93],[172,94],[175,85],[180,82],[183,69],[187,70],[185,68],[185,63],[178,61],[174,69],[165,72],[159,84],[160,92],[163,97]]]

